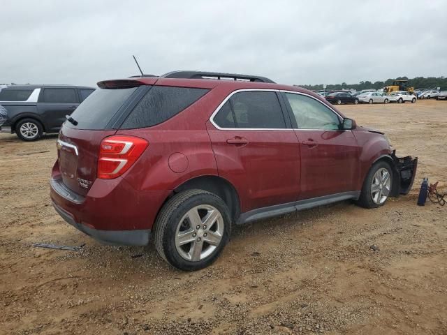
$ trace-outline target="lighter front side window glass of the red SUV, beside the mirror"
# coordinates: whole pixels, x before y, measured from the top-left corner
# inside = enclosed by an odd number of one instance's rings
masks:
[[[339,129],[339,118],[328,107],[314,98],[286,93],[296,123],[300,129]]]

